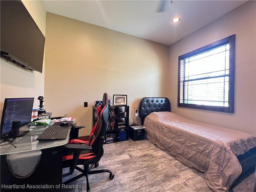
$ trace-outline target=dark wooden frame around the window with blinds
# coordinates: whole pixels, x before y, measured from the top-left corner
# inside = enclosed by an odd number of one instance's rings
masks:
[[[197,54],[212,50],[219,46],[228,43],[230,45],[229,50],[229,75],[228,75],[228,107],[225,106],[208,106],[208,105],[198,105],[198,104],[186,104],[180,102],[180,70],[181,70],[181,60],[185,58],[189,58],[195,56]],[[183,81],[183,84],[185,81]],[[184,108],[193,108],[193,109],[202,109],[202,110],[211,110],[211,111],[218,111],[218,112],[228,112],[234,113],[234,87],[235,87],[235,34],[229,37],[226,37],[222,40],[218,40],[214,43],[206,45],[204,47],[198,48],[194,51],[188,52],[178,57],[178,107]],[[185,88],[185,85],[183,85]],[[183,91],[184,93],[184,91]],[[184,98],[184,96],[182,97]]]

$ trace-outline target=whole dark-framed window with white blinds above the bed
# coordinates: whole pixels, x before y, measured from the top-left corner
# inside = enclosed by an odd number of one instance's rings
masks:
[[[178,107],[234,113],[235,35],[178,57]]]

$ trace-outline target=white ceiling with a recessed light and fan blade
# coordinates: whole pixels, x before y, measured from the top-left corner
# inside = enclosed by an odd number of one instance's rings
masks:
[[[47,12],[170,45],[245,3],[245,0],[42,0]],[[172,23],[174,16],[180,22]]]

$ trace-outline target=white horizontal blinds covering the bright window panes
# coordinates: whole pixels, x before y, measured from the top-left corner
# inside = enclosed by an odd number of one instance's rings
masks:
[[[230,45],[180,60],[180,103],[228,107]]]

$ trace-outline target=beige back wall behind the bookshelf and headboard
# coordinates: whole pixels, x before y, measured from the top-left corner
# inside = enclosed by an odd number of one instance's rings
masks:
[[[47,12],[45,109],[72,116],[92,128],[92,105],[104,92],[126,94],[133,108],[145,96],[166,96],[169,89],[168,46]],[[84,102],[88,107],[84,108]]]

